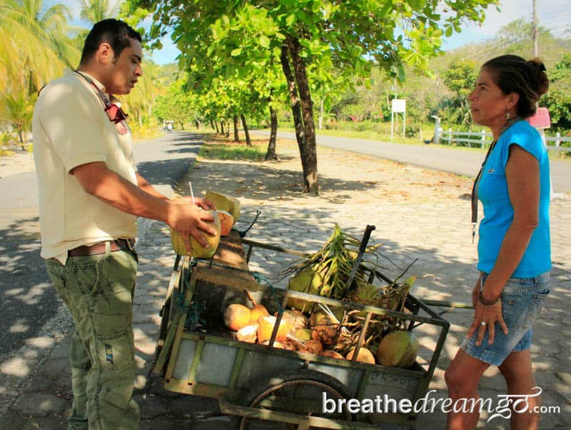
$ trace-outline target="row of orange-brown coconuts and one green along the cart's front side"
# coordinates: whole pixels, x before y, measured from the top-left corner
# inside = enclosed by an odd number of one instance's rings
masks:
[[[252,308],[243,304],[231,304],[224,313],[224,324],[228,329],[236,331],[238,341],[268,345],[277,322],[276,316],[271,316],[261,304]],[[355,347],[348,349],[350,344],[347,333],[327,306],[314,309],[310,316],[295,309],[287,309],[283,311],[273,347],[352,360]],[[345,354],[341,354],[342,351]],[[375,352],[373,354],[366,346],[362,346],[356,361],[408,368],[414,364],[418,354],[418,340],[411,331],[392,331],[383,336]]]

